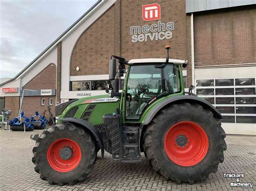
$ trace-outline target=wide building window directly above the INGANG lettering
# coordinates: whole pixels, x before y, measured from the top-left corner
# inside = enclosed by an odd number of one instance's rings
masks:
[[[71,82],[72,91],[106,90],[109,80],[76,81]]]

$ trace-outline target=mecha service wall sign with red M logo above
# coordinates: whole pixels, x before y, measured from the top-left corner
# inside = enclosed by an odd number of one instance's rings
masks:
[[[130,35],[132,43],[144,42],[148,40],[164,40],[172,38],[172,31],[174,30],[174,23],[162,23],[160,5],[149,4],[142,6],[142,18],[145,21],[158,20],[157,23],[143,26],[131,26]]]

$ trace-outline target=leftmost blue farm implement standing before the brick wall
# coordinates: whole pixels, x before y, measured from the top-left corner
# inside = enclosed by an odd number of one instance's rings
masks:
[[[14,120],[9,121],[9,125],[12,131],[33,131],[34,127],[30,124],[28,117],[24,116],[22,111],[18,117],[15,117]]]

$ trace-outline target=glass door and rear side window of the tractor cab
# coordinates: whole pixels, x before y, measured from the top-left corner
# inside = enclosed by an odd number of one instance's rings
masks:
[[[139,119],[144,108],[156,96],[178,93],[181,90],[179,66],[159,63],[133,65],[127,82],[126,119]]]

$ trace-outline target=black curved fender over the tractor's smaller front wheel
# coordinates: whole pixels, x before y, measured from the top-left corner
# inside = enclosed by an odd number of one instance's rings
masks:
[[[63,118],[63,119],[58,119],[59,121],[62,122],[68,122],[72,123],[74,125],[81,125],[83,129],[86,129],[91,132],[92,136],[96,139],[96,141],[99,143],[100,146],[100,151],[102,152],[102,158],[104,158],[104,144],[102,137],[99,134],[99,131],[93,126],[91,123],[85,121],[84,119],[77,119],[77,118]]]

